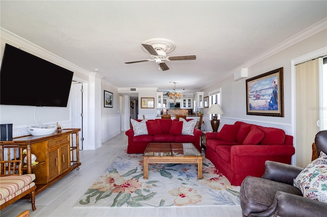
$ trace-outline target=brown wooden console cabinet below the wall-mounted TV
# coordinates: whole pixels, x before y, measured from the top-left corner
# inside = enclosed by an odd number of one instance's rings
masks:
[[[51,135],[33,137],[26,135],[13,141],[0,142],[0,160],[27,157],[25,173],[34,173],[37,185],[36,194],[49,187],[69,172],[79,169],[80,129],[63,129]],[[22,151],[27,149],[27,154]],[[31,154],[39,163],[32,166]]]

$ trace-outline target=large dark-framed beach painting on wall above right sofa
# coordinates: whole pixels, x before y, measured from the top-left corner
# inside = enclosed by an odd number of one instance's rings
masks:
[[[246,114],[284,117],[283,67],[246,79]]]

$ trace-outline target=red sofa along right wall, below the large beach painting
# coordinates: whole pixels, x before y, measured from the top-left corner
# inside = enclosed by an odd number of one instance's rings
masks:
[[[220,132],[207,132],[205,157],[213,162],[232,185],[246,176],[261,177],[266,160],[291,164],[293,137],[284,130],[237,121]]]

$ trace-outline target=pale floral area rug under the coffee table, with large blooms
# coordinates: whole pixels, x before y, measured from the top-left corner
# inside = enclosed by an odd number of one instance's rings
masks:
[[[142,154],[124,151],[75,206],[232,206],[240,204],[239,190],[205,157],[203,179],[197,179],[196,164],[150,164],[149,179],[143,179]]]

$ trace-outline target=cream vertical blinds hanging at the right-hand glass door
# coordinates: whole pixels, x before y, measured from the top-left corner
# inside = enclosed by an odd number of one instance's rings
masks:
[[[319,61],[295,66],[296,166],[306,167],[312,157],[312,143],[319,131]]]

